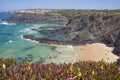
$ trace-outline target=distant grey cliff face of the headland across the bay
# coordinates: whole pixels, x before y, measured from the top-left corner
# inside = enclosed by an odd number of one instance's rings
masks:
[[[28,13],[28,12],[14,12],[12,15],[4,19],[8,22],[15,23],[50,23],[65,25],[68,23],[68,19],[62,15],[55,13]]]

